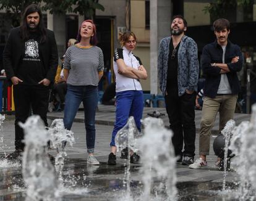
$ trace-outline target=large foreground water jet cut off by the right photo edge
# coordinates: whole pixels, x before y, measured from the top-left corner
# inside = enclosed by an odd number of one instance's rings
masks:
[[[237,197],[254,200],[256,191],[256,105],[252,106],[250,122],[243,121],[233,131],[229,149],[236,155],[233,164],[240,177]]]

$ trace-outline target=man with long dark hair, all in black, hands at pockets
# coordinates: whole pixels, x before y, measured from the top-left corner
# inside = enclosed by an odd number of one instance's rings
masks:
[[[41,9],[31,4],[25,9],[20,27],[13,28],[3,53],[7,79],[13,84],[15,104],[15,159],[24,150],[24,123],[30,114],[40,115],[47,126],[49,89],[58,66],[58,51],[53,31],[44,27]],[[30,106],[31,105],[31,106]]]

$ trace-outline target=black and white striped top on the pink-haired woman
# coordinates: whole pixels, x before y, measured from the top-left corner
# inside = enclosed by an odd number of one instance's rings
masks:
[[[70,46],[65,53],[63,67],[69,70],[67,84],[98,86],[98,72],[104,69],[103,52],[97,46]]]

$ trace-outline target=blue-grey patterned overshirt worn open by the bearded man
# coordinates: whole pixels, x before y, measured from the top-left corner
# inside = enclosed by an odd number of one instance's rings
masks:
[[[160,41],[158,49],[158,79],[163,95],[166,94],[170,41],[170,36],[163,38]],[[177,58],[178,95],[182,96],[186,92],[186,89],[189,91],[197,91],[199,62],[197,57],[197,44],[192,38],[185,35],[182,37]]]

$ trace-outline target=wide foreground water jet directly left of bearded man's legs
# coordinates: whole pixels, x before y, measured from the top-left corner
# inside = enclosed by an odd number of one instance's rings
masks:
[[[171,130],[160,118],[145,118],[143,136],[136,142],[142,152],[143,194],[140,200],[177,200],[176,157],[171,143]],[[154,183],[161,181],[159,184]],[[151,195],[153,189],[154,196]]]

